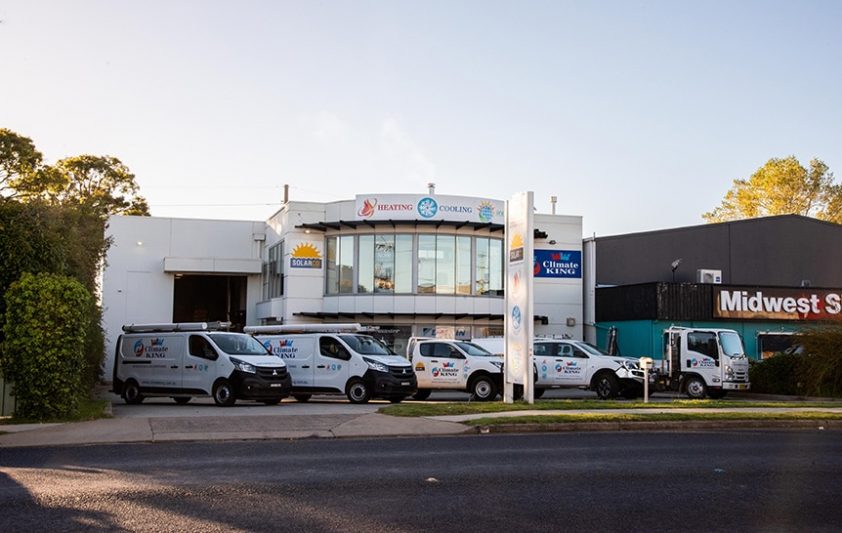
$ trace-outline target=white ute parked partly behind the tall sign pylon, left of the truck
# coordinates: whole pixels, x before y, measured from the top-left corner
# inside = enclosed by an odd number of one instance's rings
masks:
[[[492,353],[503,353],[500,337],[474,339]],[[534,397],[547,389],[595,391],[601,399],[643,396],[643,370],[636,359],[611,356],[596,346],[572,339],[536,338],[533,341]]]

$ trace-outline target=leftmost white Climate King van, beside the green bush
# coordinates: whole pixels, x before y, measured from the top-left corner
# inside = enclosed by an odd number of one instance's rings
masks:
[[[217,405],[238,399],[275,405],[292,381],[283,359],[249,335],[219,331],[219,323],[131,324],[117,339],[113,392],[129,404],[169,396],[185,404],[212,396]]]

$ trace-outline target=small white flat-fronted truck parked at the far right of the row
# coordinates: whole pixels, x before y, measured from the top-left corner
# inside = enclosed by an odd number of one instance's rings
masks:
[[[657,391],[718,399],[751,388],[748,357],[732,329],[670,327],[664,330],[664,357],[655,365]]]

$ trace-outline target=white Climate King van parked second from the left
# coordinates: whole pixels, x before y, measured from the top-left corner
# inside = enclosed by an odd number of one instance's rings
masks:
[[[383,398],[398,403],[415,393],[412,366],[360,324],[248,326],[287,363],[292,396],[306,402],[314,393],[345,394],[351,403]]]

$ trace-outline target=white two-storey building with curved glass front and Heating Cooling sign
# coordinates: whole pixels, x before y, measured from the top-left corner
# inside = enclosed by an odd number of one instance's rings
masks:
[[[582,220],[535,215],[536,335],[582,337]],[[105,377],[123,324],[360,322],[416,336],[502,335],[505,204],[444,195],[287,202],[266,222],[111,217]]]

